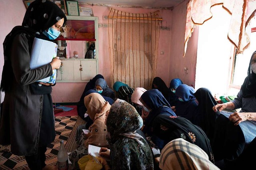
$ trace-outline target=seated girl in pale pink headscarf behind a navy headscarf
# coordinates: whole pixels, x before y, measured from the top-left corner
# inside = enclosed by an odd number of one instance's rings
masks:
[[[146,121],[146,118],[148,117],[148,109],[140,102],[141,95],[147,91],[146,89],[142,87],[136,87],[134,92],[132,93],[131,101],[132,103],[135,103],[138,108],[141,109],[141,118],[143,119],[143,123]]]

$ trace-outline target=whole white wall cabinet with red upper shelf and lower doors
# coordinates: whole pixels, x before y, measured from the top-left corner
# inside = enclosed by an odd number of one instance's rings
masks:
[[[57,70],[58,83],[84,83],[98,74],[98,17],[67,16],[67,24],[62,28],[57,56],[62,66]],[[94,59],[85,59],[88,48],[94,45]],[[74,51],[78,58],[73,59]]]

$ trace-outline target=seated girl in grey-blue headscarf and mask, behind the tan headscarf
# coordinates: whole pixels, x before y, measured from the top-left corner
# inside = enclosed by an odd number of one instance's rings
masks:
[[[108,87],[107,82],[104,79],[96,80],[94,90],[102,96],[110,97],[113,100],[115,99],[114,91]]]

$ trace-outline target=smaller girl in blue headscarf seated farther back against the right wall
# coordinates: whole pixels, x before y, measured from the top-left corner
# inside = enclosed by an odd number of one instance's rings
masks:
[[[179,100],[178,97],[175,95],[175,93],[176,93],[177,87],[181,84],[183,84],[183,83],[182,83],[181,79],[179,79],[179,78],[172,79],[171,82],[170,82],[169,89],[171,91],[171,93],[170,93],[170,105],[171,105],[171,107],[176,106],[176,103]]]

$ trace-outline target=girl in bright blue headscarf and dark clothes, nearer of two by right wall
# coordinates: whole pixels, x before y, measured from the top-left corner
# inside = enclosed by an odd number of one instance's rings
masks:
[[[179,85],[176,89],[176,96],[178,96],[179,101],[175,106],[175,113],[177,116],[184,117],[196,124],[196,97],[194,97],[195,89],[188,85]]]

